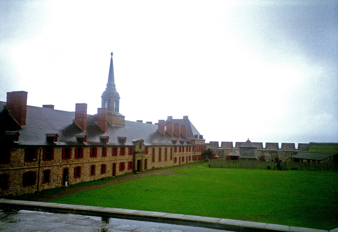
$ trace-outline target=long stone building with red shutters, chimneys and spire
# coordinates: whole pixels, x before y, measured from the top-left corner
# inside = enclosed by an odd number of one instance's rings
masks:
[[[75,112],[27,106],[27,92],[0,101],[0,195],[19,195],[202,159],[204,139],[183,119],[127,121],[111,58],[97,114],[86,103]]]

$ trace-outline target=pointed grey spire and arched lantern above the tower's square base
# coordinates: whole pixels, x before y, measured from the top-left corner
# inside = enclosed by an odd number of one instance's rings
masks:
[[[101,108],[107,108],[108,112],[119,112],[120,108],[120,94],[116,91],[114,79],[114,66],[113,66],[113,52],[110,54],[109,73],[107,87],[101,96]]]

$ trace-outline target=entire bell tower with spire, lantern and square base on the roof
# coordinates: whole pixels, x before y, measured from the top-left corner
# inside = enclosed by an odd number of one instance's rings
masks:
[[[119,113],[120,110],[120,94],[116,91],[114,66],[113,66],[113,52],[110,54],[110,66],[108,73],[107,87],[101,96],[101,108],[107,108],[107,121],[112,126],[124,127],[124,116]]]

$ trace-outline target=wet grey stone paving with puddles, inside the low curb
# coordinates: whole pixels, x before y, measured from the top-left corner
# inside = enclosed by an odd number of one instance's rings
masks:
[[[29,210],[0,210],[1,232],[224,232],[166,223]]]

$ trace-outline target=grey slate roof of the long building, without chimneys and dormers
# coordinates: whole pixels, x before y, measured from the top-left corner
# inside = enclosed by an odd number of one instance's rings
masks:
[[[148,123],[132,122],[125,120],[125,127],[115,127],[107,125],[107,132],[103,132],[96,124],[96,115],[87,114],[87,131],[83,132],[75,123],[75,112],[49,109],[36,106],[27,106],[26,128],[21,129],[15,121],[8,116],[8,111],[4,109],[6,102],[0,101],[0,141],[5,141],[4,131],[19,131],[19,144],[16,146],[112,146],[112,145],[134,145],[133,141],[143,140],[147,146],[174,145],[172,140],[196,140],[194,134],[200,135],[189,119],[174,120],[187,124],[187,138],[171,137],[167,133],[161,135],[158,126]],[[47,140],[46,134],[58,134],[57,144]],[[77,135],[87,135],[87,143],[79,142]],[[109,136],[109,144],[100,139],[102,136]],[[118,140],[118,137],[126,137],[126,143]],[[198,137],[199,138],[199,137]],[[198,139],[204,140],[204,139]],[[177,143],[181,145],[182,143]]]

